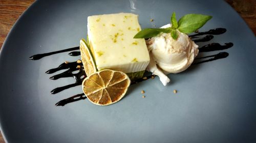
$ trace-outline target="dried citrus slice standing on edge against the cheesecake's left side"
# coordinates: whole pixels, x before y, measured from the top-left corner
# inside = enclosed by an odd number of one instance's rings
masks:
[[[81,60],[84,67],[84,71],[86,72],[87,76],[95,73],[97,71],[96,64],[93,60],[93,54],[90,51],[90,47],[87,46],[88,44],[84,39],[80,40],[80,51],[81,51]]]

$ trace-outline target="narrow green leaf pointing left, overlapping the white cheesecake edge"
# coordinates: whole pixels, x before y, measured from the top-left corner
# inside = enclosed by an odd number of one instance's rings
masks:
[[[134,38],[152,38],[163,33],[170,33],[172,28],[145,28],[144,30],[138,32]]]

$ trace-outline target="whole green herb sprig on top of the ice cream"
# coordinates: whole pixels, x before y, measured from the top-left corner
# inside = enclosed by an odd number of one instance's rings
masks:
[[[212,16],[202,15],[202,14],[186,14],[182,16],[179,21],[176,20],[176,13],[173,12],[170,22],[172,27],[168,28],[145,28],[142,31],[138,32],[134,38],[152,38],[163,33],[170,33],[173,39],[179,37],[177,30],[182,33],[189,34],[197,31],[201,28]]]

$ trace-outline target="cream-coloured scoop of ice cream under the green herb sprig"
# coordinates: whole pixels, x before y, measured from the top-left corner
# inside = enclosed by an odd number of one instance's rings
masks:
[[[170,27],[171,24],[161,28]],[[166,73],[179,73],[186,70],[198,54],[198,45],[177,30],[178,39],[174,40],[170,33],[161,33],[146,41],[151,58]]]

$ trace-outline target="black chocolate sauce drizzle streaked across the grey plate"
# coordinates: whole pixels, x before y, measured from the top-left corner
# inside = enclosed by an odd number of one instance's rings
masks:
[[[199,38],[199,39],[193,40],[194,42],[207,42],[207,41],[210,41],[211,39],[214,38],[213,35],[220,35],[220,34],[223,34],[225,32],[226,32],[225,28],[216,28],[216,29],[213,29],[213,30],[209,30],[207,32],[198,32],[194,35],[190,35],[189,37],[191,39]],[[203,36],[203,35],[206,35],[206,36],[200,37],[200,36]],[[205,46],[202,46],[201,48],[199,48],[199,52],[224,50],[224,49],[228,49],[232,46],[233,46],[233,43],[225,43],[225,45],[220,45],[219,43],[210,43],[208,45],[205,45]],[[61,53],[61,52],[67,52],[67,51],[72,51],[72,52],[69,53],[69,55],[71,55],[71,56],[78,56],[78,55],[81,54],[80,51],[73,51],[73,50],[79,50],[79,46],[78,47],[73,47],[73,48],[68,48],[68,49],[63,49],[63,50],[59,50],[59,51],[49,52],[49,53],[35,54],[35,55],[31,56],[29,59],[30,60],[39,60],[39,59],[41,59],[45,56],[49,56],[49,55],[56,54],[56,53]],[[201,63],[205,63],[205,62],[210,62],[210,61],[215,61],[215,60],[218,60],[218,59],[223,59],[223,58],[226,58],[227,56],[228,56],[227,52],[220,52],[218,54],[204,56],[202,58],[195,59],[195,62],[193,63],[193,65],[197,65],[197,64],[201,64]],[[210,58],[210,59],[204,60],[204,61],[199,61],[200,59],[206,59],[206,58]],[[199,61],[199,62],[197,62],[197,61]],[[63,77],[74,77],[76,82],[73,83],[73,84],[69,84],[69,85],[66,85],[66,86],[63,86],[63,87],[56,88],[56,89],[51,91],[51,94],[56,94],[56,93],[59,93],[63,90],[66,90],[68,88],[72,88],[72,87],[75,87],[77,85],[81,85],[83,79],[87,77],[86,73],[84,72],[82,63],[80,63],[80,62],[62,63],[57,68],[50,69],[50,70],[46,71],[46,73],[47,74],[52,74],[52,73],[55,73],[55,72],[57,72],[59,70],[63,70],[63,69],[68,69],[68,70],[65,71],[65,72],[62,72],[60,74],[54,75],[54,76],[50,77],[50,79],[56,80],[56,79],[63,78]],[[74,73],[75,71],[78,71],[78,72]],[[154,78],[154,77],[155,77],[155,75],[144,76],[143,78],[132,81],[131,85],[136,84],[138,82],[142,82],[142,81],[147,80],[147,79]],[[74,95],[74,96],[69,97],[67,99],[60,100],[59,102],[57,102],[55,104],[55,106],[64,106],[68,103],[75,102],[75,101],[82,100],[82,99],[86,99],[86,98],[87,97],[83,93],[77,94],[77,95]]]

